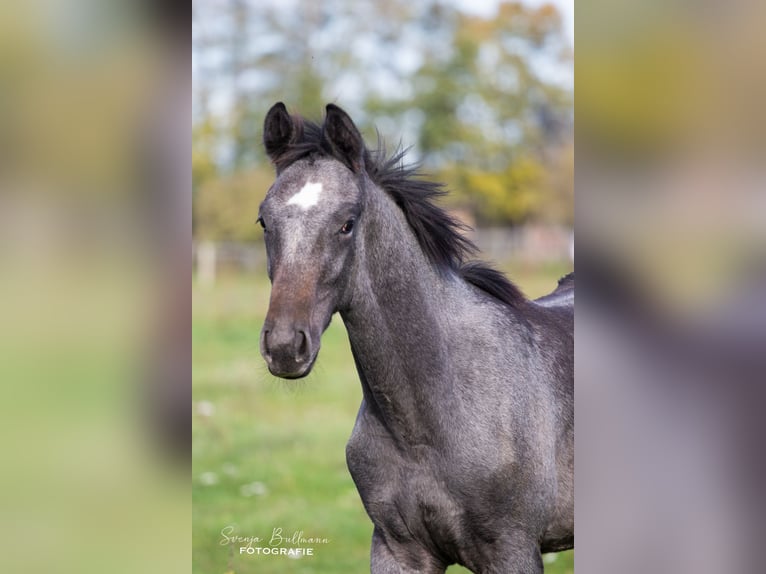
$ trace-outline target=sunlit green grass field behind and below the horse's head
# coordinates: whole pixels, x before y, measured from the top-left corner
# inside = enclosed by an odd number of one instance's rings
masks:
[[[508,265],[531,297],[550,291],[569,265]],[[272,377],[258,351],[269,285],[231,275],[193,286],[193,572],[344,574],[369,572],[372,525],[346,469],[345,444],[361,400],[346,333],[335,318],[313,373]],[[228,529],[227,529],[228,528]],[[240,555],[222,535],[274,529],[326,542],[313,556]],[[224,530],[226,529],[226,530]],[[544,557],[548,574],[571,573],[572,552]],[[466,570],[453,566],[448,572]]]

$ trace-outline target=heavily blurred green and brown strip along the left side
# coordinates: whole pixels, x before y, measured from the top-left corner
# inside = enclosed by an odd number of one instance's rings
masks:
[[[188,572],[190,19],[0,3],[2,572]]]

